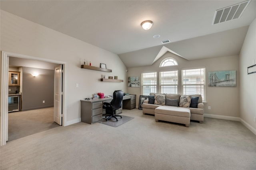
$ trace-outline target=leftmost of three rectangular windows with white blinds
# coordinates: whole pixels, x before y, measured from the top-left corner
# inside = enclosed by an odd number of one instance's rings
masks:
[[[142,95],[156,93],[156,72],[142,73]]]

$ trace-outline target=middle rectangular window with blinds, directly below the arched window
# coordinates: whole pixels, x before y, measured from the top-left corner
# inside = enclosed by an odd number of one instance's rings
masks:
[[[178,70],[160,72],[160,93],[178,94]]]

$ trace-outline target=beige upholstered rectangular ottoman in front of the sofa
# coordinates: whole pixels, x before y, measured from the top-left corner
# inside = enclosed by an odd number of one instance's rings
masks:
[[[169,121],[174,123],[185,124],[186,127],[190,125],[190,109],[184,107],[173,106],[159,106],[155,109],[156,121]]]

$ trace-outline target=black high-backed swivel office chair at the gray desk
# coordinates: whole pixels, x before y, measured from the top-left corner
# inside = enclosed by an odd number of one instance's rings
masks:
[[[121,115],[116,115],[116,110],[122,107],[123,97],[124,97],[124,92],[122,90],[116,90],[113,93],[113,100],[110,103],[107,103],[107,102],[103,103],[102,108],[106,109],[106,114],[108,114],[105,116],[106,121],[108,121],[108,119],[112,117],[114,117],[116,121],[118,121],[116,116],[120,116],[122,118]]]

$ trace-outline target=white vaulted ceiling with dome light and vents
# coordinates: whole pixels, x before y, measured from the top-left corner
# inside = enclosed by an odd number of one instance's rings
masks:
[[[1,0],[1,10],[119,55],[127,68],[148,66],[166,51],[188,60],[238,55],[252,0],[236,20],[212,25],[215,11],[243,0]],[[140,23],[152,20],[144,30]],[[159,38],[153,35],[159,34]],[[162,44],[163,40],[170,43]],[[164,47],[163,47],[164,46]]]

